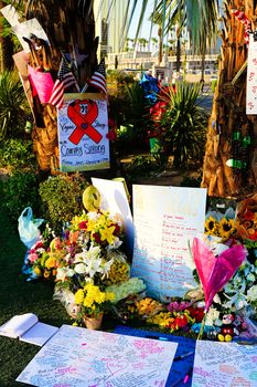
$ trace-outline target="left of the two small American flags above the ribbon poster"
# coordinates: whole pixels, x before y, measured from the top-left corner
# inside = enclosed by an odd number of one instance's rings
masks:
[[[64,92],[72,86],[75,86],[76,91],[79,92],[76,79],[68,67],[68,62],[63,57],[49,103],[56,108],[61,108],[63,106]]]

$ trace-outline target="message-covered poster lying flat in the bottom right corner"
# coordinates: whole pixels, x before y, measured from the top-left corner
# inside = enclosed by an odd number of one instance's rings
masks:
[[[256,387],[254,345],[197,341],[192,387]]]

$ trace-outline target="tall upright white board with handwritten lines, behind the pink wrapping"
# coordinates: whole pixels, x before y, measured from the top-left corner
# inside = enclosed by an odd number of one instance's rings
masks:
[[[203,188],[133,186],[132,275],[156,297],[183,296],[196,287],[189,241],[204,231]]]

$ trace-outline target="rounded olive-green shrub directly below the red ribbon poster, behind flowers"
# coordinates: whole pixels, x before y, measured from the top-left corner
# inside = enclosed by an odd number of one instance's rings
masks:
[[[82,195],[88,184],[78,174],[49,177],[40,185],[44,219],[60,233],[65,222],[83,211]]]

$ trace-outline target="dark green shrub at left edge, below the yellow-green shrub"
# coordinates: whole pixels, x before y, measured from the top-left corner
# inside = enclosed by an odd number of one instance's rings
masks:
[[[39,178],[34,172],[14,172],[2,184],[3,207],[12,221],[17,221],[25,207],[40,215]]]

